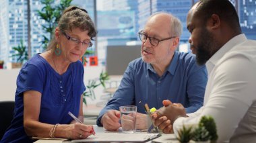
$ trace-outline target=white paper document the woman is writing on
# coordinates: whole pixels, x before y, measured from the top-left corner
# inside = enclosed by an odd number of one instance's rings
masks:
[[[72,140],[71,142],[145,142],[158,138],[159,136],[161,134],[105,132],[96,133],[95,136],[89,136],[82,140]]]

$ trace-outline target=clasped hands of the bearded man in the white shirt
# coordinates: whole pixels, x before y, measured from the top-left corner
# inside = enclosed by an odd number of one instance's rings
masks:
[[[152,113],[152,120],[164,133],[173,133],[172,124],[179,116],[186,117],[186,111],[180,103],[172,103],[169,100],[163,101],[164,107]]]

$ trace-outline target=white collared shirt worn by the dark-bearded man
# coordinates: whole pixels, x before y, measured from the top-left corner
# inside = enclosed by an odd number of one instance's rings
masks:
[[[179,117],[174,133],[183,124],[198,124],[203,115],[214,117],[218,142],[256,140],[256,41],[235,36],[206,62],[209,81],[203,107]]]

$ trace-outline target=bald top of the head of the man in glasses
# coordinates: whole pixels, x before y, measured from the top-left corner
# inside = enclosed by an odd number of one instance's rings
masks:
[[[181,21],[170,13],[155,13],[148,18],[146,26],[164,27],[170,36],[180,37],[182,33]]]

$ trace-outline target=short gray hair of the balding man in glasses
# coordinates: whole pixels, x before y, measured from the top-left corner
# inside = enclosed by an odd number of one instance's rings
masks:
[[[157,12],[152,14],[148,19],[150,19],[151,17],[153,17],[154,15],[158,15],[158,14],[168,14],[170,16],[170,32],[168,32],[170,34],[170,36],[175,36],[175,37],[180,37],[181,33],[183,31],[183,26],[181,23],[181,20],[177,17],[175,17],[174,15],[172,15],[171,13],[166,13],[166,12]]]

